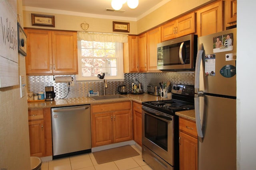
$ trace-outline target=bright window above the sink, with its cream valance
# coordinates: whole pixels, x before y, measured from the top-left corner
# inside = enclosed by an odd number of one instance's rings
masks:
[[[116,37],[115,35],[114,37]],[[108,80],[124,79],[122,41],[125,40],[106,37],[102,39],[104,36],[111,37],[112,34],[78,32],[78,75],[76,75],[76,80],[97,81],[100,80],[98,74],[102,75],[103,73]]]

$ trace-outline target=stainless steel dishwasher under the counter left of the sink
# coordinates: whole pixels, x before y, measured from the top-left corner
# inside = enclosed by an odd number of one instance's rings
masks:
[[[53,159],[91,149],[90,105],[52,108]]]

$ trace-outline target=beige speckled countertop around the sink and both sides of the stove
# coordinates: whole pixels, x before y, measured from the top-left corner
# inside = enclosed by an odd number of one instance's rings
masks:
[[[124,96],[127,96],[127,98],[94,101],[89,97],[81,97],[81,98],[55,99],[54,101],[28,102],[28,109],[45,108],[45,107],[63,107],[63,106],[74,106],[74,105],[84,105],[84,104],[101,104],[101,103],[111,103],[111,102],[123,102],[128,100],[138,102],[138,103],[148,102],[148,101],[168,100],[167,98],[161,98],[160,96],[152,96],[147,93],[127,94]],[[178,111],[175,114],[180,117],[184,117],[186,119],[195,121],[194,110]]]

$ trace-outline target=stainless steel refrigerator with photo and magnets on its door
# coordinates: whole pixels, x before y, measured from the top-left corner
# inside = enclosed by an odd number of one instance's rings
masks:
[[[198,170],[236,170],[236,28],[198,38]]]

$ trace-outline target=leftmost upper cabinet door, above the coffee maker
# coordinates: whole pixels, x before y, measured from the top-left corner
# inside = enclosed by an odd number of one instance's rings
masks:
[[[50,31],[24,29],[27,35],[26,74],[52,73]]]

